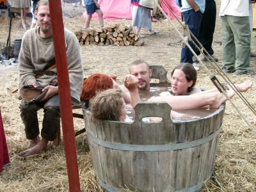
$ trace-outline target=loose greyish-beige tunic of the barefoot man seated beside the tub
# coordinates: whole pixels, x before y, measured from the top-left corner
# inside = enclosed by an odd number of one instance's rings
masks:
[[[41,76],[36,79],[35,70],[44,70],[49,61],[54,59],[54,44],[52,36],[42,38],[38,28],[29,29],[22,38],[19,53],[19,90],[24,85],[36,83],[38,86],[47,86],[57,76]],[[76,36],[65,29],[65,43],[67,52],[67,65],[70,81],[72,102],[80,101],[83,84],[83,67],[81,51]],[[52,71],[56,72],[56,68]],[[75,100],[74,100],[75,99]]]

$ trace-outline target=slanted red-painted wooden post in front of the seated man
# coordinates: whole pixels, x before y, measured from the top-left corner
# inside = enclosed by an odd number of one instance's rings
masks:
[[[61,1],[49,1],[69,191],[80,191]]]

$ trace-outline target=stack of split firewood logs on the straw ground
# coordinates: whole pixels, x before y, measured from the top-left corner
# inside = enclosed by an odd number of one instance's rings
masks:
[[[134,33],[132,27],[120,24],[112,24],[105,28],[85,29],[75,34],[80,45],[141,46],[144,44]]]

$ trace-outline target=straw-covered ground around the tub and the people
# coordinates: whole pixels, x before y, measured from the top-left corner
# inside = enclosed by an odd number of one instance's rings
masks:
[[[70,8],[70,11],[74,10]],[[18,20],[14,19],[14,25]],[[118,20],[116,22],[130,24],[128,20]],[[106,24],[108,23],[106,22]],[[6,42],[8,19],[0,17],[0,25],[0,41]],[[81,17],[65,20],[65,27],[72,31],[77,31],[83,26],[84,19]],[[97,26],[97,22],[93,21],[93,26]],[[122,83],[125,74],[128,74],[127,65],[139,58],[148,61],[150,64],[163,65],[170,72],[179,63],[180,45],[177,44],[180,40],[179,36],[165,20],[153,23],[153,28],[160,31],[159,35],[149,36],[147,31],[142,31],[142,34],[145,35],[145,45],[143,47],[97,45],[81,47],[86,76],[95,72],[116,74],[118,75],[118,82]],[[252,50],[254,52],[256,52],[255,32],[252,35]],[[220,17],[218,17],[213,42],[215,55],[218,58],[222,57],[220,33]],[[12,40],[21,38],[23,34],[22,29],[13,29]],[[221,60],[218,65],[221,66]],[[209,63],[205,63],[205,66],[211,74],[214,73]],[[251,67],[252,70],[256,71],[255,58],[251,60]],[[58,147],[50,144],[48,150],[38,156],[28,159],[19,158],[18,154],[26,148],[28,141],[25,138],[24,125],[19,115],[20,101],[17,99],[17,94],[12,93],[12,90],[17,86],[17,67],[3,67],[0,65],[0,74],[0,108],[11,159],[11,164],[0,173],[0,191],[68,191],[63,143]],[[196,85],[212,88],[213,84],[209,75],[207,70],[201,66]],[[229,74],[228,77],[234,83],[246,79],[253,80],[253,87],[243,95],[255,108],[255,76]],[[256,126],[255,115],[244,106],[241,100],[236,96],[232,101],[246,116],[248,122]],[[38,116],[41,123],[42,111],[38,113]],[[76,130],[82,129],[84,127],[83,120],[74,120],[74,126]],[[256,191],[255,139],[256,132],[253,132],[244,124],[237,111],[231,106],[230,102],[227,102],[214,172],[202,191]],[[76,138],[76,147],[81,191],[101,191],[93,175],[92,161],[84,134]],[[238,159],[238,161],[236,162],[234,159]]]

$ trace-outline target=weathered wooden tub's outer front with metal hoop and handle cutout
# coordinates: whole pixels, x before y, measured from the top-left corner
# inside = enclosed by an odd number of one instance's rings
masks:
[[[134,122],[92,120],[83,108],[95,176],[107,191],[199,191],[212,175],[225,105],[172,122],[165,102],[140,103]],[[143,122],[159,116],[161,122]]]

